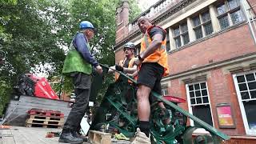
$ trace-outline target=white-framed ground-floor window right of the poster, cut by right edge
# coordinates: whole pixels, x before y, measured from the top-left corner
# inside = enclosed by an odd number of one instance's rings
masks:
[[[235,74],[234,83],[246,134],[256,134],[256,71]]]

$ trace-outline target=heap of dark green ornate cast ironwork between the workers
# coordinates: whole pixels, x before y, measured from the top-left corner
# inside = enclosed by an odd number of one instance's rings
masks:
[[[102,65],[102,67],[109,68]],[[110,84],[106,94],[98,107],[91,125],[92,130],[101,130],[102,126],[118,130],[126,137],[133,137],[138,127],[138,113],[136,100],[136,81],[118,72],[120,77],[117,82]],[[128,82],[128,79],[132,82]],[[160,105],[163,102],[165,109]],[[169,102],[162,95],[152,92],[150,95],[150,135],[152,143],[166,144],[219,144],[228,140],[226,134],[214,129],[201,119],[194,117],[177,105]],[[108,116],[106,118],[106,116]],[[199,127],[186,126],[187,119],[197,122],[209,134],[192,138],[192,133]]]

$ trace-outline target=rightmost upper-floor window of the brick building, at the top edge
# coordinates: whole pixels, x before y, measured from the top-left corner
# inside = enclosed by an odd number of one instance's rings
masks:
[[[227,0],[217,6],[218,22],[221,29],[245,20],[239,0]]]

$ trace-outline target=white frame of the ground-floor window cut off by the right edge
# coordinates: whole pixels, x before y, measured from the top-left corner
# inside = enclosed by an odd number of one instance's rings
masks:
[[[248,120],[247,120],[247,117],[246,117],[245,106],[243,105],[243,101],[245,101],[245,100],[242,100],[242,95],[240,93],[240,89],[239,89],[239,86],[238,86],[238,79],[237,79],[238,76],[251,74],[251,73],[255,74],[254,77],[256,78],[256,70],[250,70],[250,71],[246,71],[246,72],[242,72],[242,73],[238,73],[238,74],[233,74],[232,76],[233,76],[233,81],[234,81],[234,87],[235,87],[237,97],[238,97],[238,104],[239,104],[241,114],[242,114],[242,122],[243,122],[243,125],[245,127],[246,134],[256,136],[255,131],[250,130],[250,127],[249,127]],[[247,80],[246,80],[246,85],[248,86]],[[248,101],[248,102],[249,101],[256,101],[256,98],[250,98],[250,99],[247,99],[246,101]]]

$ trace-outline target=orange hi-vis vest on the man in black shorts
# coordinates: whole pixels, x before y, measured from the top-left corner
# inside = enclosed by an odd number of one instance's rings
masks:
[[[159,26],[150,26],[146,30],[146,33],[142,38],[140,54],[142,54],[148,48],[148,46],[150,46],[152,42],[149,31],[153,27],[159,27]],[[162,29],[162,27],[159,27],[159,28]],[[158,64],[164,68],[163,76],[166,76],[169,74],[167,52],[166,52],[166,38],[165,40],[162,41],[162,45],[159,46],[158,49],[155,50],[153,54],[150,54],[148,57],[146,57],[143,62],[158,62]]]

